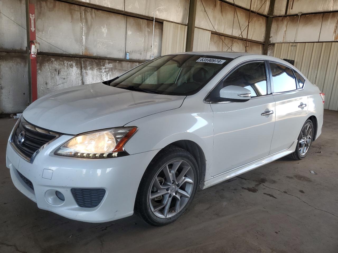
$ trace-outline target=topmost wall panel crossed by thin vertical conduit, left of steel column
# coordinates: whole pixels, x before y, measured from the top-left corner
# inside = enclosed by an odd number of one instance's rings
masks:
[[[154,16],[155,0],[125,0],[125,10],[141,15]],[[155,18],[188,23],[189,0],[156,0]]]

